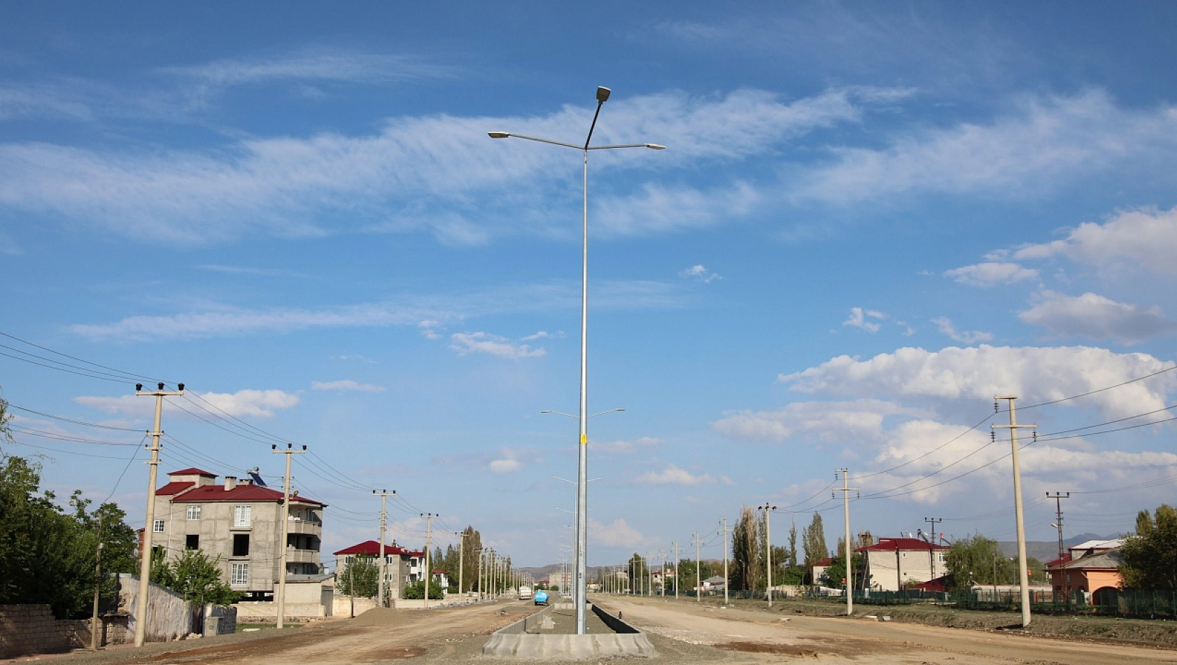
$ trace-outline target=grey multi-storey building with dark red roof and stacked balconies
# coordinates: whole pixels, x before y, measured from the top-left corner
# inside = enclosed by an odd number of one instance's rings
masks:
[[[218,559],[224,579],[254,600],[268,599],[278,587],[282,538],[282,493],[252,480],[217,476],[199,468],[168,473],[155,491],[155,523],[151,546],[168,558],[202,550]],[[318,574],[326,504],[291,496],[286,574]]]

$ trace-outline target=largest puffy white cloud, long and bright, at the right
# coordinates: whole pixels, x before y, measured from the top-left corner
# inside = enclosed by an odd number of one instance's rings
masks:
[[[1088,346],[983,344],[940,351],[905,347],[867,360],[839,355],[778,379],[805,393],[942,403],[977,400],[982,405],[996,394],[1016,394],[1020,404],[1032,404],[1122,384],[1173,365],[1145,353],[1113,353]],[[1165,398],[1175,387],[1177,377],[1168,372],[1064,404],[1093,406],[1110,418],[1122,418],[1166,406]]]

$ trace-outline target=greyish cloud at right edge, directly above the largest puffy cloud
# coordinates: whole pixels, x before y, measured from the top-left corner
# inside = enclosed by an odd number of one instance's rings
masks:
[[[1096,293],[1073,297],[1046,291],[1018,318],[1046,328],[1053,337],[1115,339],[1123,344],[1177,332],[1177,321],[1165,317],[1161,307],[1116,302]]]

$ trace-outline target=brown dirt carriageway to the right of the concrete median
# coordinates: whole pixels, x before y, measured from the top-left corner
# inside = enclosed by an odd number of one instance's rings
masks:
[[[1177,651],[1058,640],[1016,633],[939,629],[863,619],[783,617],[750,610],[697,606],[690,601],[600,598],[637,627],[673,640],[742,653],[732,663],[780,661],[782,656],[819,663],[891,664],[1177,664]]]

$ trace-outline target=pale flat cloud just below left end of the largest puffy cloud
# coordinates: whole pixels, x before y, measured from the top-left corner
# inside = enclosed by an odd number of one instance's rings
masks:
[[[807,437],[826,443],[873,440],[883,434],[889,415],[917,415],[893,401],[799,401],[777,411],[742,411],[711,426],[727,437],[782,443],[791,437]]]

